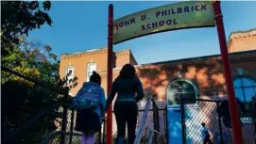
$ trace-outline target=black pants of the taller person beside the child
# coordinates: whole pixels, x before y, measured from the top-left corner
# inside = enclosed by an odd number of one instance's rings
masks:
[[[117,139],[123,143],[122,138],[126,136],[126,123],[128,124],[128,144],[135,140],[135,129],[137,123],[138,107],[135,102],[116,102],[114,104],[114,115],[117,124]],[[117,140],[118,141],[118,140]],[[117,142],[119,143],[119,142]]]

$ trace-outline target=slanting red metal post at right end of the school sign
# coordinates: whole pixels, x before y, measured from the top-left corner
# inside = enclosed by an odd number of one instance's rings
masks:
[[[238,106],[234,96],[233,83],[230,72],[230,58],[228,53],[227,41],[225,36],[224,24],[222,21],[222,12],[220,8],[220,1],[213,1],[213,8],[215,14],[215,21],[218,32],[218,40],[220,45],[220,52],[222,57],[222,63],[225,72],[226,87],[228,90],[231,124],[234,135],[235,144],[243,144],[242,127],[238,114]]]

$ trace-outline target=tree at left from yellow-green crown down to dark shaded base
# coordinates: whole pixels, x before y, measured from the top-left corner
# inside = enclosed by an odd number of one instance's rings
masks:
[[[9,56],[2,56],[2,65],[52,89],[43,88],[9,72],[1,72],[2,137],[8,136],[17,127],[22,126],[26,120],[50,105],[70,101],[70,97],[67,98],[65,95],[68,95],[70,89],[67,77],[71,73],[60,79],[60,62],[51,52],[51,47],[38,41],[24,42],[20,45],[21,48],[14,48]],[[77,77],[72,79],[71,88],[77,86],[76,81]],[[9,143],[40,142],[55,128],[54,120],[61,116],[58,108],[53,110],[53,114],[26,128],[26,134],[15,136]]]

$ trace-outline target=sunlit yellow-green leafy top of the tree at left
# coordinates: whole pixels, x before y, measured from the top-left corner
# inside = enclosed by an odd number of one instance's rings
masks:
[[[13,48],[12,53],[9,50],[9,56],[2,56],[1,62],[3,66],[15,72],[21,72],[30,78],[54,83],[55,77],[59,73],[59,62],[51,50],[49,45],[43,45],[42,42],[25,41],[22,42],[20,48]],[[23,80],[7,72],[2,74],[2,84],[9,80]]]

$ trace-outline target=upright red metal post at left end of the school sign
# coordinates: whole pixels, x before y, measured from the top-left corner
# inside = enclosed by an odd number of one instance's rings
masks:
[[[108,95],[111,92],[112,85],[112,34],[113,34],[113,6],[109,5],[109,24],[108,24],[108,77],[107,77],[107,90]],[[110,104],[107,115],[107,144],[112,143],[112,104]]]

